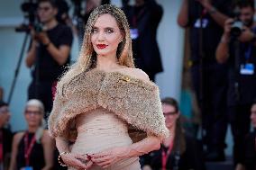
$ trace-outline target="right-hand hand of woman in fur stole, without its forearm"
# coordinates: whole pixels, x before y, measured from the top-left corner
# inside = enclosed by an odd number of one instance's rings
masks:
[[[128,147],[118,147],[106,149],[102,152],[92,154],[92,161],[103,168],[114,165],[119,160],[122,160],[129,155]]]

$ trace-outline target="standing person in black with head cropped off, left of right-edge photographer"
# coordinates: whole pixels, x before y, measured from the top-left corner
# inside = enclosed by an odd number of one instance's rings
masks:
[[[191,79],[202,114],[207,161],[224,161],[227,67],[215,59],[232,0],[183,0],[178,25],[188,28]]]

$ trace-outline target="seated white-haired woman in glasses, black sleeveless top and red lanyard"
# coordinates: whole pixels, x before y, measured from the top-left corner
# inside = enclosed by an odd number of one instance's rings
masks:
[[[44,107],[37,100],[26,103],[24,117],[27,130],[14,135],[9,170],[50,170],[53,166],[54,142],[44,126]]]

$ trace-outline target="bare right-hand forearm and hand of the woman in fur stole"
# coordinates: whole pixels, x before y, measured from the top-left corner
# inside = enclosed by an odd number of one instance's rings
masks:
[[[103,152],[91,155],[92,161],[103,168],[113,165],[115,162],[128,157],[139,157],[160,149],[160,139],[149,136],[142,141],[133,143],[128,147],[107,149]]]

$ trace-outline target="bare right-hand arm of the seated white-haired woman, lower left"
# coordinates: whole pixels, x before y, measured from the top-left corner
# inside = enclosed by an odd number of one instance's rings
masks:
[[[50,138],[48,130],[43,132],[41,144],[43,148],[43,157],[45,160],[45,166],[42,168],[42,170],[50,170],[53,167],[54,140]]]

